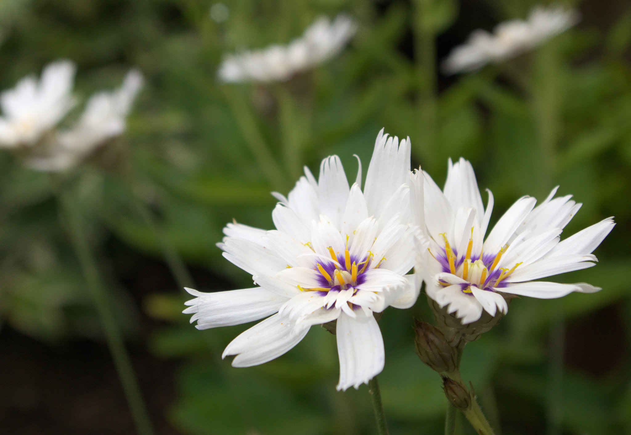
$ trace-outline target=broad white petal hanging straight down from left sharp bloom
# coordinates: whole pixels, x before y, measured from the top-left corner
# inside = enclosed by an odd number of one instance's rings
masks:
[[[338,390],[359,388],[384,369],[384,340],[374,316],[358,311],[355,318],[341,313],[336,337],[339,355]]]

